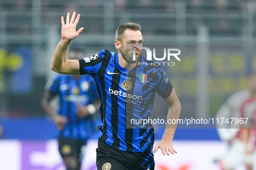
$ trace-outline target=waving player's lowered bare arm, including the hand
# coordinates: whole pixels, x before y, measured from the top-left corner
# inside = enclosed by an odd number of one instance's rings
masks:
[[[165,102],[169,105],[167,120],[177,120],[180,116],[181,104],[174,88],[170,96],[168,98],[165,98]],[[176,126],[177,124],[167,124],[162,140],[158,144],[156,144],[154,152],[156,152],[158,148],[160,148],[162,150],[162,154],[165,154],[165,152],[167,155],[169,155],[170,152],[172,154],[177,153],[177,151],[173,148],[172,145],[172,139],[175,133]]]

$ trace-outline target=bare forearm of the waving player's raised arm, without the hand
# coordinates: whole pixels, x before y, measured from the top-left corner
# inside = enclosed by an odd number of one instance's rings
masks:
[[[58,73],[65,73],[64,66],[65,62],[67,61],[67,54],[68,54],[68,47],[70,45],[70,40],[62,39],[54,52],[52,57],[51,69]]]

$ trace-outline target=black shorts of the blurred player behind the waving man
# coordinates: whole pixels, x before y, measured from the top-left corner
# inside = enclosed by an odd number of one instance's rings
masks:
[[[74,140],[72,138],[64,138],[60,136],[58,138],[58,150],[62,156],[62,158],[67,156],[75,156],[79,162],[81,163],[83,152],[82,147],[86,142],[83,140]]]

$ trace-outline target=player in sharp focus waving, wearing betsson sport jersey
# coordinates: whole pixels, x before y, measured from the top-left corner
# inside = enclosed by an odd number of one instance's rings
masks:
[[[98,170],[154,170],[154,129],[151,123],[141,127],[131,119],[148,118],[156,92],[169,106],[167,119],[178,119],[181,104],[170,80],[160,66],[136,54],[130,47],[142,47],[141,28],[136,23],[121,24],[114,41],[118,53],[102,50],[81,60],[67,60],[71,41],[84,28],[76,31],[80,15],[74,12],[66,24],[62,16],[62,40],[56,47],[51,68],[62,74],[89,74],[98,87],[102,124],[98,126],[97,169]],[[139,61],[152,65],[140,65]],[[130,123],[130,124],[129,124]],[[127,126],[131,128],[127,128]],[[133,128],[135,126],[135,128]],[[168,124],[161,142],[156,144],[162,154],[174,154],[172,139],[176,124]]]

